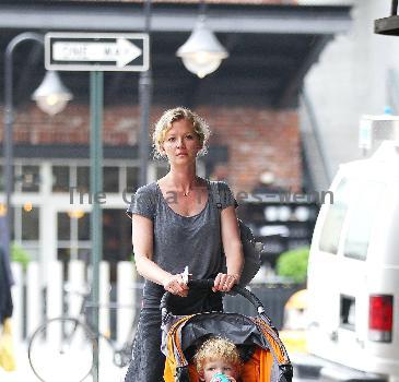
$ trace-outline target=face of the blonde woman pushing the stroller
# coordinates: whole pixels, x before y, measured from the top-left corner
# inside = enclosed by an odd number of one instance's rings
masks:
[[[179,119],[172,123],[162,144],[163,153],[171,164],[195,162],[201,150],[198,134],[193,131],[192,123],[187,119]]]

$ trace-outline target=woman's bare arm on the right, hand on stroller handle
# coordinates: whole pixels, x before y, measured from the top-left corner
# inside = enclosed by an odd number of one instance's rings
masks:
[[[234,284],[239,282],[244,266],[243,244],[239,238],[238,222],[234,206],[222,210],[221,231],[227,273],[218,274],[213,289],[228,291]]]

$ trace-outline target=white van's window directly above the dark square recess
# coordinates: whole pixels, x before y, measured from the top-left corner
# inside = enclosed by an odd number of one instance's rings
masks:
[[[343,254],[348,258],[365,260],[373,224],[384,192],[384,183],[367,181],[360,186],[356,198],[353,199],[353,207],[351,206],[348,215],[348,235]]]

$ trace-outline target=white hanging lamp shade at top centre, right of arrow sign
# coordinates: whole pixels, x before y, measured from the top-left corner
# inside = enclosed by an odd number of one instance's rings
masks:
[[[203,79],[220,67],[222,60],[228,57],[228,52],[201,17],[176,56],[181,58],[188,71]]]

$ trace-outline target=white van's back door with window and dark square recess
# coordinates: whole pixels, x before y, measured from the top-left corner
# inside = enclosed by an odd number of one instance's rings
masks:
[[[342,230],[339,261],[339,326],[337,342],[340,362],[362,368],[367,338],[368,287],[366,264],[369,242],[383,212],[386,184],[380,181],[351,179],[354,195]],[[382,216],[382,218],[384,218]],[[380,222],[380,220],[379,220]]]

